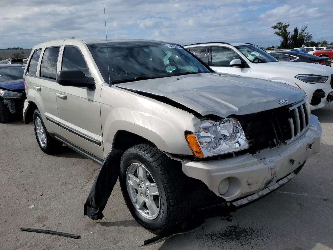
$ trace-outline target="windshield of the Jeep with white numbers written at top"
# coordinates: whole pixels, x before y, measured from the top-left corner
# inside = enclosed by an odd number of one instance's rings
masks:
[[[113,83],[211,72],[175,44],[147,41],[108,43],[109,70],[106,43],[88,44],[88,47],[106,82],[109,82],[109,72]]]

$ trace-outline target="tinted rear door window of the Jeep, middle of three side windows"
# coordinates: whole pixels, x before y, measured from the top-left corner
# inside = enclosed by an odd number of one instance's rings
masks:
[[[42,62],[40,76],[56,80],[57,79],[57,62],[60,47],[46,48]]]

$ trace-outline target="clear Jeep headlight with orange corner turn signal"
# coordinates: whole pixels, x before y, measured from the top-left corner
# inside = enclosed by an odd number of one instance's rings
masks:
[[[194,136],[197,144],[191,140]],[[240,123],[232,118],[220,122],[204,120],[199,132],[186,135],[186,139],[197,157],[202,157],[202,153],[205,157],[232,153],[249,147]]]

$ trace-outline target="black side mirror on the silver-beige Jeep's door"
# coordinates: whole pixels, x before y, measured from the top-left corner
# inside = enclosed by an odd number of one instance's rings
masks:
[[[62,86],[94,88],[94,78],[86,76],[81,70],[60,70],[57,82]]]

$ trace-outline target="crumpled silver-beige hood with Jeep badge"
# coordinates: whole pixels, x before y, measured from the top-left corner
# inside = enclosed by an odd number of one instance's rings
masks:
[[[177,80],[179,79],[179,80]],[[229,74],[182,75],[114,85],[128,90],[165,96],[202,116],[225,118],[281,107],[304,99],[305,92],[284,83]]]

